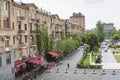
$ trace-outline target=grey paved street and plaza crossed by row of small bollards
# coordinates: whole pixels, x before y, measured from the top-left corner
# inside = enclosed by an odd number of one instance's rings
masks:
[[[120,80],[119,69],[78,69],[76,63],[82,57],[83,49],[78,48],[61,61],[59,65],[37,76],[36,80]],[[105,57],[104,57],[105,61]],[[67,63],[70,68],[66,72]],[[57,71],[59,69],[59,71]]]

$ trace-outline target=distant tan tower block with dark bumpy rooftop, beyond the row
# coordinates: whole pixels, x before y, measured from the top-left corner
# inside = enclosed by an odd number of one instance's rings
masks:
[[[70,17],[70,22],[79,26],[79,30],[85,30],[85,16],[82,13],[73,13]]]

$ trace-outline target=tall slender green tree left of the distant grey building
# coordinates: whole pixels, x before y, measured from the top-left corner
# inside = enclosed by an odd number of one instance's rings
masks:
[[[101,21],[98,21],[96,26],[97,26],[98,41],[102,42],[105,39],[104,25],[103,25],[103,23]]]

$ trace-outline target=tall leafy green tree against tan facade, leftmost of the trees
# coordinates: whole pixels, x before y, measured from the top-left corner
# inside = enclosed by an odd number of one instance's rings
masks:
[[[38,29],[37,48],[39,53],[44,53],[53,49],[53,38],[48,36],[47,29]]]

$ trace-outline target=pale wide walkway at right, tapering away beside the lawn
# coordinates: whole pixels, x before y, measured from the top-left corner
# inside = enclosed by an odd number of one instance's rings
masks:
[[[108,49],[107,52],[104,52],[104,50],[102,50],[102,56],[103,56],[102,69],[120,69],[120,64],[117,63],[110,49]]]

